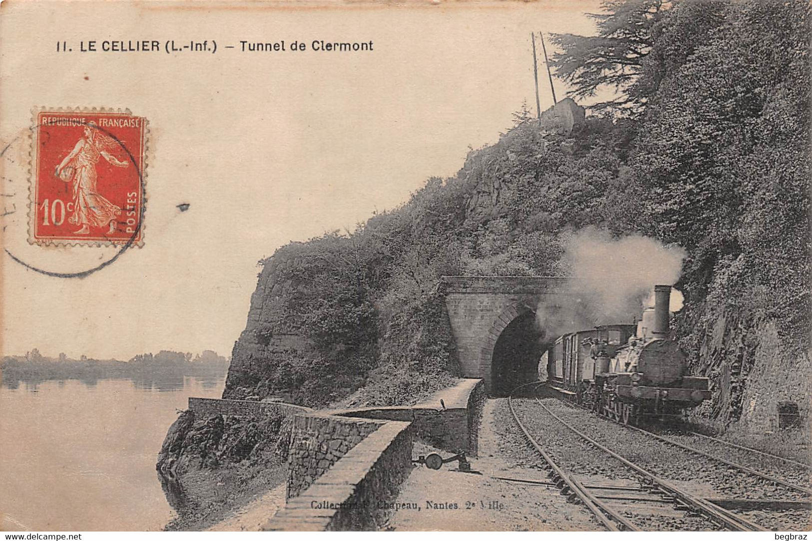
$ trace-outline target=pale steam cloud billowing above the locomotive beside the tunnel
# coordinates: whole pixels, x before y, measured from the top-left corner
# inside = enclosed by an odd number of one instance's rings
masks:
[[[594,228],[572,234],[565,246],[564,264],[573,277],[572,302],[542,301],[536,311],[547,338],[639,319],[654,305],[654,285],[673,284],[679,277],[685,250],[667,247],[653,238],[631,235],[611,238]],[[672,290],[670,309],[682,307],[682,294]]]

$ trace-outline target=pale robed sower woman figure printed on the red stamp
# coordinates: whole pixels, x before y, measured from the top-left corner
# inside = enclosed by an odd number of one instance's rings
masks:
[[[110,151],[117,146],[115,140],[98,130],[93,122],[84,127],[84,138],[76,141],[71,153],[62,163],[57,165],[56,175],[63,181],[71,180],[73,168],[73,214],[67,219],[71,224],[81,225],[80,230],[74,234],[89,234],[90,225],[104,227],[109,225],[108,234],[115,231],[115,217],[121,214],[121,208],[110,203],[96,191],[96,164],[99,157],[104,157],[116,167],[127,167],[129,161],[120,161],[110,155]]]

